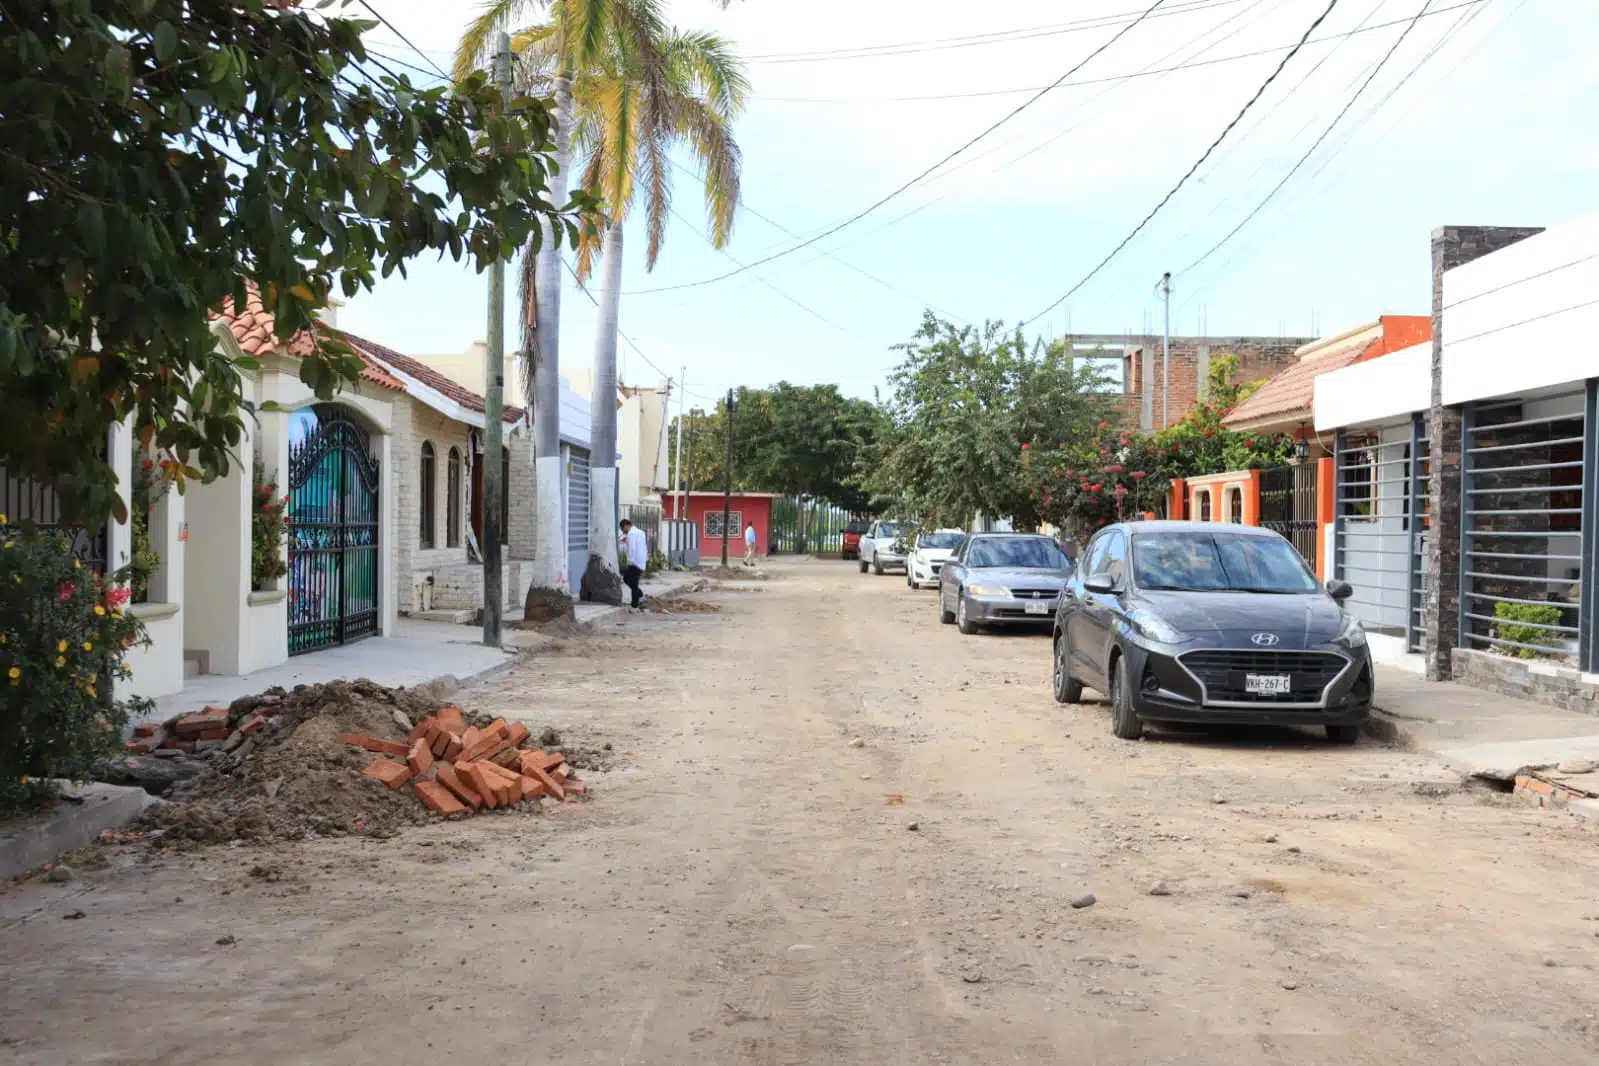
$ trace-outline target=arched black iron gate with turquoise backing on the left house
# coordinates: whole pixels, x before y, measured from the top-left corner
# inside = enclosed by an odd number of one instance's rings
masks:
[[[309,417],[307,417],[309,416]],[[289,443],[289,655],[377,631],[377,460],[333,404],[296,416]]]

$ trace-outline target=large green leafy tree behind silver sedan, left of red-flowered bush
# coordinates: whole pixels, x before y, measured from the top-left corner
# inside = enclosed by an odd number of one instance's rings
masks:
[[[958,328],[931,312],[903,352],[867,487],[923,524],[990,515],[1036,527],[1022,454],[1083,440],[1110,417],[1100,372],[1062,344],[1028,347],[999,323]]]

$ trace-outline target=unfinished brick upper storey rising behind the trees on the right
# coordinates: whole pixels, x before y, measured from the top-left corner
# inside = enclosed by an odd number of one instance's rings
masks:
[[[1162,340],[1156,336],[1094,334],[1067,337],[1073,352],[1105,358],[1121,353],[1122,392],[1118,409],[1126,428],[1158,430],[1169,416],[1177,422],[1204,398],[1210,361],[1223,355],[1238,356],[1239,382],[1263,382],[1295,363],[1295,352],[1314,337],[1172,337],[1170,390],[1162,376]],[[1145,385],[1150,385],[1148,388]]]

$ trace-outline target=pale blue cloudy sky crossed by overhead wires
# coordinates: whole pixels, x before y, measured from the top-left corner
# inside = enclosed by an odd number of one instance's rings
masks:
[[[726,11],[672,0],[676,26],[721,34],[747,61],[744,203],[713,249],[697,182],[676,174],[656,270],[643,240],[627,246],[622,379],[672,376],[697,406],[776,380],[871,396],[929,308],[961,324],[1027,323],[1030,336],[1159,332],[1164,272],[1174,334],[1329,336],[1428,313],[1439,225],[1548,225],[1593,209],[1599,5],[1430,0],[1415,19],[1423,0],[1334,0],[1121,246],[1327,3],[1166,0],[1127,29],[1145,0],[732,0]],[[446,70],[477,10],[371,5],[421,50],[381,26],[376,51]],[[833,229],[995,123],[839,232],[694,284]],[[350,300],[339,323],[413,355],[461,352],[486,336],[486,305],[483,275],[424,259]],[[563,371],[590,366],[593,344],[593,305],[568,280]]]

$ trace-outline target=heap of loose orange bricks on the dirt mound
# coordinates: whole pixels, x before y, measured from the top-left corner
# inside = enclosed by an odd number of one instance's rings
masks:
[[[424,718],[405,743],[361,734],[344,734],[339,740],[377,753],[366,777],[395,790],[411,785],[430,810],[446,817],[540,796],[568,801],[587,791],[566,756],[531,746],[521,722],[507,724],[500,718],[477,729],[467,726],[459,706]]]

